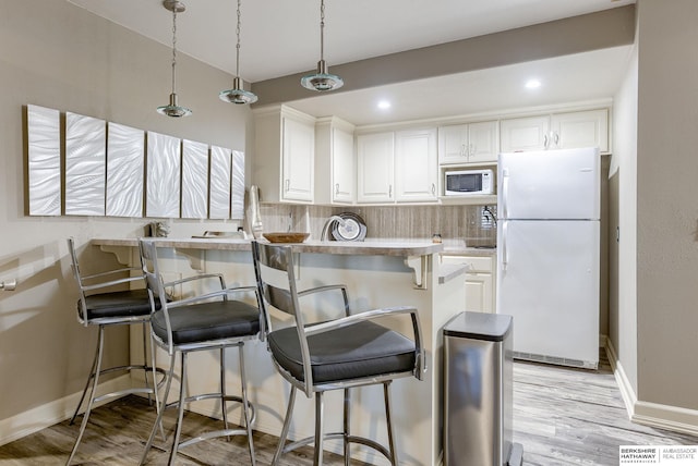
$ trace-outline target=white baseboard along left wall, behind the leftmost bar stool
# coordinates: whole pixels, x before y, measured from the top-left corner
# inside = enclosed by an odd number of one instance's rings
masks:
[[[97,393],[110,393],[124,390],[130,387],[131,379],[129,375],[125,373],[121,377],[117,377],[116,379],[100,383]],[[73,415],[81,395],[82,391],[0,420],[0,445],[19,440],[68,419]],[[113,400],[116,398],[103,401],[96,406]]]

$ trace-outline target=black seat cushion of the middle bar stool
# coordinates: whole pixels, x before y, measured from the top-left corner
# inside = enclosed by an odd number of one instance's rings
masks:
[[[239,301],[200,303],[169,309],[173,343],[188,344],[209,340],[255,335],[260,332],[260,311]],[[168,341],[165,311],[151,317],[153,332]]]

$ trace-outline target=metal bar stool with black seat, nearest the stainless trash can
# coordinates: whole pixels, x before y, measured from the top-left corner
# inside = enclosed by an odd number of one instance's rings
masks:
[[[417,309],[390,307],[349,312],[349,301],[345,285],[326,285],[298,291],[293,265],[293,246],[252,242],[252,257],[257,280],[262,314],[270,318],[270,308],[292,317],[293,326],[279,330],[269,328],[267,346],[279,373],[291,384],[288,408],[279,444],[272,462],[277,464],[284,453],[314,443],[313,464],[323,464],[323,441],[344,441],[345,464],[349,465],[350,444],[360,443],[383,454],[392,465],[398,465],[393,426],[390,421],[390,382],[401,377],[421,380],[424,351]],[[273,284],[272,284],[273,283]],[[337,303],[342,307],[339,318],[311,322],[304,316],[301,298],[318,293],[337,293]],[[329,303],[329,297],[323,297]],[[389,330],[375,321],[389,316],[411,318],[413,340]],[[349,389],[383,384],[388,447],[350,432]],[[286,445],[296,392],[315,397],[315,433]],[[344,390],[344,430],[324,432],[323,394],[330,390]]]

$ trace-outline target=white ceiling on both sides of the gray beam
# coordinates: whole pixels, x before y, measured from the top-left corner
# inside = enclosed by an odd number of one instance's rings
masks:
[[[68,0],[171,47],[171,13],[161,0]],[[183,0],[177,48],[236,74],[236,0]],[[333,64],[466,39],[633,4],[635,0],[327,0],[325,60]],[[240,75],[260,82],[313,70],[320,59],[317,0],[245,0]],[[323,94],[292,107],[354,124],[470,114],[561,101],[607,98],[617,89],[629,47],[460,73],[370,89]],[[602,72],[600,72],[602,70]],[[542,86],[526,91],[524,81]],[[300,85],[300,84],[299,84]],[[417,98],[416,98],[417,96]],[[378,99],[392,108],[376,111]]]

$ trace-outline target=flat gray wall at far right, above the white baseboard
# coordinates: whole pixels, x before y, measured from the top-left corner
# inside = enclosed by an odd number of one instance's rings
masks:
[[[698,2],[637,11],[637,394],[698,409]]]

